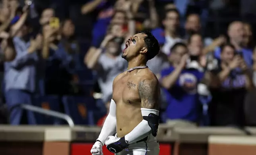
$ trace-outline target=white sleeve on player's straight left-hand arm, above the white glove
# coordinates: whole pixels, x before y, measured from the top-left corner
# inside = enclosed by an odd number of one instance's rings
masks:
[[[102,144],[105,144],[108,136],[111,136],[116,131],[116,103],[113,99],[111,99],[110,107],[109,107],[109,115],[107,116],[103,127],[101,129],[101,133],[99,134],[99,138],[97,140],[101,141]]]

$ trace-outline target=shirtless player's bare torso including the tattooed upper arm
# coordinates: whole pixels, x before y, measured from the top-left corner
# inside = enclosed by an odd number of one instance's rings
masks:
[[[117,134],[122,137],[141,121],[141,108],[158,109],[159,84],[149,69],[137,73],[124,72],[113,83],[116,103]]]

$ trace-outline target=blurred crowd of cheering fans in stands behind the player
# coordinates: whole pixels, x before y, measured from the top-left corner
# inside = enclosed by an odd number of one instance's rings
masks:
[[[254,0],[1,0],[1,122],[101,126],[129,36],[160,45],[147,66],[161,83],[161,123],[256,125]]]

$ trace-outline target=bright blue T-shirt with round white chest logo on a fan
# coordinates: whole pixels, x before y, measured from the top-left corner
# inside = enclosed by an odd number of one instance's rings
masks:
[[[173,66],[161,72],[161,78],[171,74]],[[184,119],[196,122],[199,115],[199,97],[197,84],[204,76],[198,70],[184,69],[180,73],[175,85],[170,89],[164,89],[167,99],[167,117],[169,119]]]

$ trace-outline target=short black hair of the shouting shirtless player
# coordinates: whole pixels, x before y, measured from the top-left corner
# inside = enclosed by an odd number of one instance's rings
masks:
[[[160,50],[159,43],[150,31],[145,30],[145,31],[140,31],[138,33],[147,35],[144,37],[144,42],[145,42],[145,47],[147,47],[147,53],[146,53],[147,60],[150,60],[159,53],[159,50]]]

